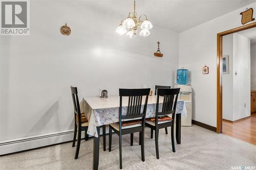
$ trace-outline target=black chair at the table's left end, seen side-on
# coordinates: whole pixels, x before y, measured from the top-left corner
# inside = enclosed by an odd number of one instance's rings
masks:
[[[73,144],[72,147],[75,147],[76,142],[76,134],[78,130],[78,136],[77,136],[77,145],[76,145],[76,153],[75,153],[75,159],[78,158],[79,149],[80,149],[80,142],[81,142],[81,132],[85,131],[85,140],[88,140],[89,135],[87,134],[88,130],[88,120],[86,119],[84,113],[81,114],[80,112],[80,104],[78,100],[78,93],[77,93],[77,87],[70,86],[71,88],[71,94],[73,99],[73,105],[74,105],[74,116],[75,116],[75,129],[74,129],[74,138],[73,138]],[[102,126],[103,131],[103,150],[105,151],[106,147],[106,141],[105,141],[105,125]]]

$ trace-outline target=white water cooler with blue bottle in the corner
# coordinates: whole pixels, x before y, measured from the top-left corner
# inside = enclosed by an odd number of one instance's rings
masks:
[[[192,88],[188,84],[188,70],[181,68],[177,70],[177,84],[175,88],[180,88],[179,99],[186,105],[187,116],[181,116],[181,126],[191,126],[192,122]]]

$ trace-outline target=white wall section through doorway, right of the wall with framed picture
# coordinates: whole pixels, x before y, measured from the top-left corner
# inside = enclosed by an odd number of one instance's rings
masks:
[[[233,121],[236,121],[250,116],[250,39],[237,33],[233,34],[233,74]]]

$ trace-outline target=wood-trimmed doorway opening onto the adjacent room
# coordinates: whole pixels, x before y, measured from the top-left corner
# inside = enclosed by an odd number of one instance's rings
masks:
[[[255,116],[254,113],[250,114],[251,111],[253,112],[253,104],[251,105],[253,99],[252,101],[250,99],[250,87],[252,87],[253,90],[253,82],[251,85],[250,82],[245,81],[246,77],[248,77],[247,80],[250,80],[251,76],[250,58],[248,58],[248,51],[243,51],[243,49],[250,48],[250,45],[254,43],[253,41],[256,42],[255,27],[256,22],[253,22],[249,25],[231,29],[217,35],[217,133],[233,135],[233,137],[240,137],[240,139],[245,138],[245,136],[248,137],[248,134],[243,136],[241,134],[234,134],[234,132],[239,132],[239,129],[243,129],[243,132],[250,134],[250,130],[246,129],[246,126],[252,128],[251,123],[256,121],[256,114]],[[253,40],[253,37],[247,37],[246,39],[248,32],[251,32],[250,34],[252,35],[253,30],[255,40]],[[252,72],[255,71],[252,70]],[[229,95],[228,99],[226,98],[227,95]],[[254,122],[254,125],[255,124],[256,122]],[[223,128],[225,128],[225,130]],[[256,133],[254,144],[256,144]]]

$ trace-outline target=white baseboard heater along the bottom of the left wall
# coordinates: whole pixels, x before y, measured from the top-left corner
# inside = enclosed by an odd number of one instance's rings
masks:
[[[106,133],[108,132],[109,132],[109,128],[107,127]],[[102,129],[100,129],[100,134],[102,134]],[[61,142],[72,141],[73,136],[74,136],[74,130],[66,130],[66,131],[0,141],[0,155],[45,147],[48,145],[57,144]],[[81,138],[84,138],[84,131],[82,131]]]

